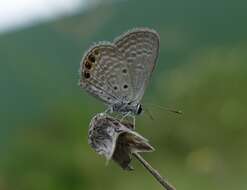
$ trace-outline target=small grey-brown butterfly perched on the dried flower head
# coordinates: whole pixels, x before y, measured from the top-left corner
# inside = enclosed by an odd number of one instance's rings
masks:
[[[159,35],[135,28],[113,42],[99,42],[84,54],[79,85],[122,115],[142,113],[141,99],[159,54]]]

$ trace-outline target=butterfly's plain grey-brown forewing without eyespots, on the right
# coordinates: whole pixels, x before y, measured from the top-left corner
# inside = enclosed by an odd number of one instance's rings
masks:
[[[159,35],[147,28],[133,29],[114,40],[124,56],[131,77],[129,100],[140,102],[155,68],[159,53]]]

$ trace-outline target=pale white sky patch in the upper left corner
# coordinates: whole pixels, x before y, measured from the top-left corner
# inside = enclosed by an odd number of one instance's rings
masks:
[[[95,0],[0,0],[0,33],[73,14]]]

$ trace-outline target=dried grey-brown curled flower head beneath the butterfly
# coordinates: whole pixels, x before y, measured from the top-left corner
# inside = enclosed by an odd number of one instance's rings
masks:
[[[105,113],[97,114],[90,122],[89,144],[107,160],[113,159],[125,170],[132,170],[133,153],[151,152],[148,140],[133,130],[131,123],[120,122]]]

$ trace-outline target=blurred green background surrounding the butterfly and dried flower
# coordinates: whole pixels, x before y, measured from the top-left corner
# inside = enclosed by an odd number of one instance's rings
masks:
[[[138,26],[161,38],[143,99],[154,120],[137,118],[156,148],[144,157],[177,189],[247,189],[246,1],[9,2],[0,1],[0,190],[161,189],[135,160],[130,173],[106,167],[89,147],[90,119],[105,108],[77,85],[93,42]]]

